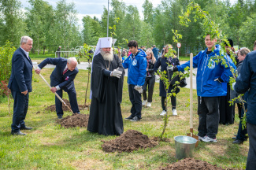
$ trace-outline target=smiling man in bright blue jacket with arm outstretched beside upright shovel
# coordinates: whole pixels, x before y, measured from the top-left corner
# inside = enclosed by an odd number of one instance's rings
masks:
[[[217,39],[211,39],[210,35],[206,35],[206,50],[202,50],[193,57],[193,68],[198,68],[196,75],[199,116],[198,139],[203,142],[217,142],[219,100],[220,96],[227,94],[221,83],[228,83],[229,77],[232,76],[229,66],[217,64],[213,60],[215,55],[220,55],[221,50],[221,46],[215,46],[215,42]],[[224,58],[226,60],[226,57]],[[184,72],[184,68],[187,66],[190,66],[190,61],[169,69]]]

